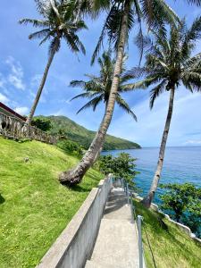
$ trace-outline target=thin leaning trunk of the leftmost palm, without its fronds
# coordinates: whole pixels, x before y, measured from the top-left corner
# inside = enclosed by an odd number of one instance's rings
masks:
[[[49,55],[48,62],[47,62],[47,64],[46,64],[46,69],[45,69],[45,71],[44,71],[43,78],[42,78],[42,80],[41,80],[41,82],[40,82],[40,86],[39,86],[39,88],[38,88],[37,96],[35,97],[34,103],[33,103],[32,107],[31,107],[31,109],[30,109],[29,116],[28,116],[27,121],[26,121],[26,125],[27,125],[28,127],[30,126],[30,123],[31,123],[32,118],[33,118],[33,115],[34,115],[34,113],[35,113],[35,111],[36,111],[36,108],[37,108],[37,106],[38,106],[38,101],[39,101],[39,99],[40,99],[41,93],[42,93],[43,88],[44,88],[44,86],[45,86],[45,83],[46,83],[46,77],[47,77],[49,68],[50,68],[50,66],[51,66],[51,63],[53,62],[54,54],[56,53],[57,48],[58,48],[58,45],[56,44],[56,45],[54,46],[54,50],[53,50],[52,53]]]

